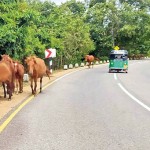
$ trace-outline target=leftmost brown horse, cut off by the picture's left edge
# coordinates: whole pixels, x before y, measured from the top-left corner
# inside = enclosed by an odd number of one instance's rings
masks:
[[[9,94],[9,100],[11,100],[12,93],[14,91],[14,79],[15,72],[14,66],[11,59],[6,59],[5,55],[1,55],[2,60],[0,61],[0,82],[2,82],[4,88],[4,98],[6,98],[6,93]],[[6,87],[7,85],[7,91]]]

